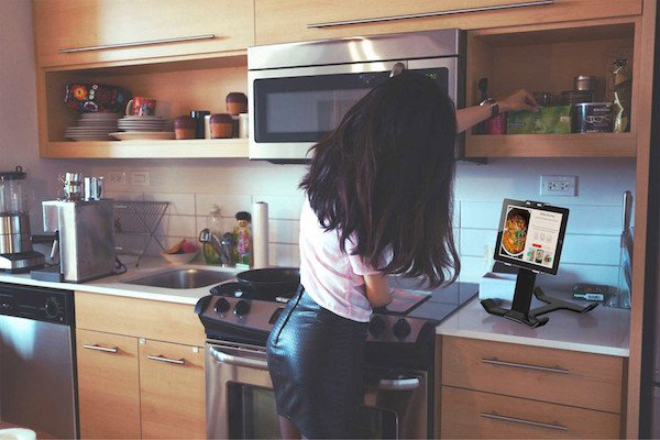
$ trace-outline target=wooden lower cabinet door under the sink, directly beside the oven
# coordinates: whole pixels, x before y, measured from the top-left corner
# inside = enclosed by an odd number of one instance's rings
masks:
[[[206,438],[204,350],[142,340],[140,397],[142,438]]]

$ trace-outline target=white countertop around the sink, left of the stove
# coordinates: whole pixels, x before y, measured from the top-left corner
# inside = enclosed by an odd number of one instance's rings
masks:
[[[177,304],[189,304],[195,305],[197,300],[202,296],[209,294],[209,289],[212,286],[199,287],[199,288],[190,288],[190,289],[172,289],[172,288],[163,288],[163,287],[151,287],[151,286],[141,286],[136,284],[127,284],[122,283],[122,280],[130,280],[133,278],[139,278],[142,276],[146,276],[151,273],[162,272],[162,271],[174,271],[177,268],[195,268],[195,270],[205,270],[205,271],[230,271],[235,274],[242,272],[244,270],[237,270],[233,267],[220,267],[220,266],[210,266],[206,264],[186,264],[186,265],[173,265],[167,263],[165,260],[161,257],[147,257],[143,256],[140,260],[140,266],[134,267],[130,264],[127,264],[128,272],[120,275],[106,276],[99,279],[89,280],[86,283],[52,283],[52,282],[43,282],[38,279],[32,279],[30,274],[8,274],[0,272],[0,283],[13,283],[21,284],[26,286],[41,286],[41,287],[51,287],[57,289],[68,289],[68,290],[78,290],[78,292],[88,292],[92,294],[101,294],[101,295],[114,295],[114,296],[123,296],[131,298],[140,298],[140,299],[152,299],[158,301],[168,301],[168,302],[177,302]]]

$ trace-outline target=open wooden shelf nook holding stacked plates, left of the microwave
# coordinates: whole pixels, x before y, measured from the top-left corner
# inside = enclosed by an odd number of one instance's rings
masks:
[[[227,111],[224,98],[231,91],[246,92],[245,52],[201,58],[148,59],[102,66],[67,66],[40,69],[40,155],[50,158],[216,158],[248,157],[246,139],[167,141],[84,141],[65,138],[80,113],[64,103],[69,82],[119,86],[132,96],[157,100],[156,116],[173,121],[191,110]],[[172,130],[172,129],[170,129]],[[119,131],[119,130],[117,130]]]

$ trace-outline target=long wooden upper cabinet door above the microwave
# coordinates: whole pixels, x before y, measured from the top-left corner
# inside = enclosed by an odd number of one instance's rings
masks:
[[[638,15],[641,0],[255,0],[255,43]],[[499,9],[493,9],[499,8]],[[491,9],[491,10],[488,10]]]

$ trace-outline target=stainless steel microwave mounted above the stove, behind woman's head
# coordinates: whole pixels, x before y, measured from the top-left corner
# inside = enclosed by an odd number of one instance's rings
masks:
[[[433,78],[462,107],[458,57],[250,70],[250,158],[309,158],[309,148],[389,78],[396,63]]]

